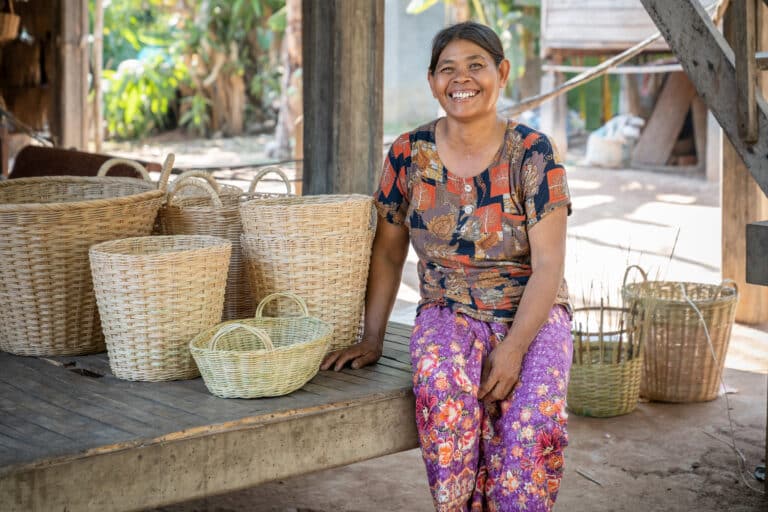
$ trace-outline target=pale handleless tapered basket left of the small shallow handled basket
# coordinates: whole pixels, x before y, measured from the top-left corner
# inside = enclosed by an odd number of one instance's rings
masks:
[[[221,319],[231,247],[212,236],[147,236],[91,248],[116,377],[162,381],[199,375],[188,344]]]

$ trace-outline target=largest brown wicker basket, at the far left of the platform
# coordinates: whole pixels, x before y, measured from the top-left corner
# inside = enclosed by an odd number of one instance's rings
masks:
[[[134,178],[0,182],[0,349],[27,356],[103,351],[88,248],[148,235],[162,198],[153,183]]]

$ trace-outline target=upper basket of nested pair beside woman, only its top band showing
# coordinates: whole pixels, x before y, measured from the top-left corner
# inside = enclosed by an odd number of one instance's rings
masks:
[[[262,198],[240,208],[243,232],[259,236],[359,235],[375,223],[373,212],[373,198],[360,194]]]

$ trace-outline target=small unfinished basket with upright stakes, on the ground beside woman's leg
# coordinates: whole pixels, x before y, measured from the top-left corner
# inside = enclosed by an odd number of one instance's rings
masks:
[[[624,308],[574,311],[568,408],[605,418],[635,410],[642,376],[641,318]]]

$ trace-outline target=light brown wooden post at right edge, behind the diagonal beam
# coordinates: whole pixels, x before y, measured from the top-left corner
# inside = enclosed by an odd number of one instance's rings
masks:
[[[738,3],[738,2],[736,2]],[[732,3],[731,6],[734,4]],[[759,47],[768,47],[768,9],[759,6],[757,37]],[[729,41],[742,30],[735,25],[732,7],[725,15],[724,32]],[[760,76],[759,86],[768,95],[768,77]],[[732,91],[731,94],[736,94]],[[736,321],[748,324],[768,321],[768,287],[746,282],[746,225],[768,219],[768,198],[750,176],[733,144],[723,140],[722,181],[722,272],[723,277],[736,281],[739,286],[739,304]]]

